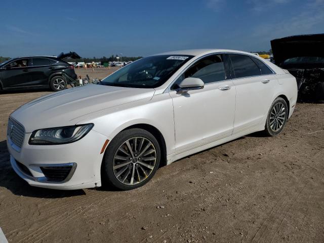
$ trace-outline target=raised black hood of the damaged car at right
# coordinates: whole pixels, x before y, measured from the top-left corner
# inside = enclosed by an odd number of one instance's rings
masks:
[[[294,35],[271,41],[276,65],[293,57],[324,57],[324,34]]]

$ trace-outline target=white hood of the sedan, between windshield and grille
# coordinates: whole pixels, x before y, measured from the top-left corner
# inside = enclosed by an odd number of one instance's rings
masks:
[[[10,116],[26,133],[37,129],[71,126],[83,116],[138,100],[151,99],[154,89],[86,85],[43,96],[24,104]]]

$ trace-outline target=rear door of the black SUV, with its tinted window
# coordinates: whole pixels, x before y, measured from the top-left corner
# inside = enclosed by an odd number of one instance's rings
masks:
[[[30,85],[47,85],[51,71],[54,69],[53,60],[42,57],[33,57],[29,70],[31,75]]]

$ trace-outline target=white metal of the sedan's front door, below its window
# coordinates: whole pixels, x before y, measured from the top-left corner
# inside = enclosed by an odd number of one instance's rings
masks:
[[[221,91],[220,87],[231,89]],[[232,80],[205,85],[189,95],[171,91],[173,100],[176,151],[231,135],[235,111],[235,87]],[[188,132],[190,131],[190,132]]]

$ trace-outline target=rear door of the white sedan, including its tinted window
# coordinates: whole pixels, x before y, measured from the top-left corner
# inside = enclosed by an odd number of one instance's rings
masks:
[[[261,60],[244,54],[228,54],[236,87],[233,134],[256,126],[267,113],[277,85],[274,72]]]

